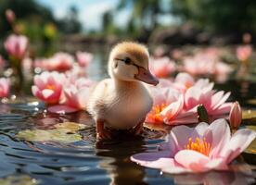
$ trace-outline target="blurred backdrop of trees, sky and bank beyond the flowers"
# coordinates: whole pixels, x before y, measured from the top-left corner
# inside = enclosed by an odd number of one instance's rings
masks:
[[[16,15],[15,31],[40,48],[37,55],[121,40],[225,45],[256,31],[253,0],[1,0],[1,43],[12,30],[6,9]]]

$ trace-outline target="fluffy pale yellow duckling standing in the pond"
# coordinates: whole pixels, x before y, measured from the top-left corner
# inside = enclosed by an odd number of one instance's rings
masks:
[[[109,129],[141,132],[153,104],[143,82],[159,83],[150,73],[148,61],[147,47],[143,44],[124,42],[112,48],[108,66],[110,79],[96,85],[87,105],[87,111],[96,121],[97,138],[110,139]]]

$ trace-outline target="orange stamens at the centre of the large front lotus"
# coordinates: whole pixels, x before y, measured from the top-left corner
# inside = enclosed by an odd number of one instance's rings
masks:
[[[198,153],[205,154],[209,156],[211,151],[211,144],[206,142],[206,139],[196,138],[195,141],[192,141],[192,138],[188,139],[188,143],[185,145],[185,149],[197,151]]]

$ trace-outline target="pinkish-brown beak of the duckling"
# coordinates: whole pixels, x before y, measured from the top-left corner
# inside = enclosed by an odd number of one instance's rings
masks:
[[[143,82],[146,82],[148,84],[157,85],[160,81],[154,77],[148,69],[138,67],[138,74],[134,75],[134,79],[141,80]]]

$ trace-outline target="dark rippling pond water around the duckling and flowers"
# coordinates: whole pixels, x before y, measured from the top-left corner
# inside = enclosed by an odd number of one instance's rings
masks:
[[[102,60],[96,58],[89,75],[95,80],[106,77]],[[104,66],[104,65],[103,65]],[[256,85],[229,80],[216,85],[217,89],[231,91],[231,101],[238,100],[243,107],[253,109],[247,100],[255,98]],[[29,98],[0,105],[0,178],[10,175],[28,175],[39,184],[174,184],[188,182],[211,184],[250,184],[250,175],[235,172],[211,172],[199,175],[170,176],[159,170],[138,166],[130,155],[158,150],[166,132],[164,129],[145,129],[141,137],[120,133],[118,140],[96,142],[96,129],[85,112],[70,115],[46,113],[45,105]],[[62,122],[86,125],[78,131],[78,142],[26,142],[17,137],[24,129],[53,129]],[[253,123],[250,122],[250,125]],[[244,160],[256,165],[255,155],[243,154]],[[17,182],[17,181],[16,181]],[[19,184],[19,183],[18,183]]]

